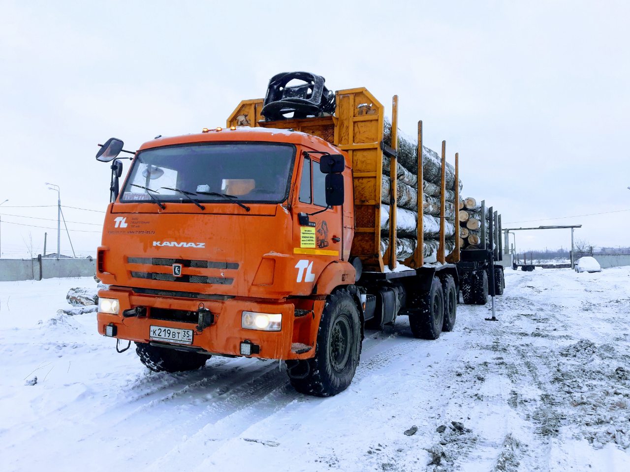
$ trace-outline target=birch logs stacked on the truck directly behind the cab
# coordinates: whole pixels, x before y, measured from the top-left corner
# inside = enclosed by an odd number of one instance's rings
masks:
[[[391,146],[391,123],[385,121],[384,141]],[[382,198],[381,198],[381,254],[387,250],[389,239],[389,202],[391,199],[391,179],[389,177],[389,157],[383,156]],[[413,255],[418,244],[418,143],[398,132],[398,163],[396,166],[396,259],[404,261]],[[423,256],[425,262],[437,261],[440,237],[440,198],[442,186],[442,158],[428,147],[422,147],[422,218]],[[445,191],[445,254],[455,247],[455,168],[446,164]],[[462,184],[459,181],[459,189]]]

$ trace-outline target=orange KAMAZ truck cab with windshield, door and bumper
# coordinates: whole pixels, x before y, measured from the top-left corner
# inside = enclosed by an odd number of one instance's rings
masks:
[[[296,310],[313,312],[318,289],[355,279],[352,211],[326,205],[319,165],[338,153],[306,133],[266,128],[144,143],[103,225],[97,276],[110,288],[99,295],[117,300],[118,313],[99,312],[99,332],[212,354],[304,357],[317,322]],[[352,201],[345,159],[340,174]]]

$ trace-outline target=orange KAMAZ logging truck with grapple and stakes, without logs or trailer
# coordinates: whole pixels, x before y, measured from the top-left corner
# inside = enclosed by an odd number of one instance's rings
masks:
[[[333,93],[323,77],[292,72],[273,77],[264,99],[242,101],[224,128],[135,152],[115,138],[101,145],[112,187],[98,332],[125,349],[135,342],[155,371],[198,369],[210,356],[278,359],[297,391],[330,396],[350,385],[364,329],[406,315],[416,337],[451,330],[459,247],[445,254],[444,143],[437,262],[423,261],[421,214],[415,252],[397,261],[396,96],[390,146],[385,115],[365,88]],[[119,186],[121,152],[132,162]]]

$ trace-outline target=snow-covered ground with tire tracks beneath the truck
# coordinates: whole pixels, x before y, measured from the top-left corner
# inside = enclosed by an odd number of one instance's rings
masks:
[[[630,470],[630,268],[506,284],[499,322],[459,305],[436,341],[404,317],[368,332],[350,388],[321,399],[272,361],[152,373],[95,313],[57,313],[91,278],[0,283],[0,469]]]

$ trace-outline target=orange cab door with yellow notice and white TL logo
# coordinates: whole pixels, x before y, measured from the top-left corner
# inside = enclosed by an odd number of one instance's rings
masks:
[[[341,206],[326,208],[326,174],[319,155],[300,157],[299,189],[293,202],[295,282],[302,295],[312,292],[319,274],[341,259]]]

